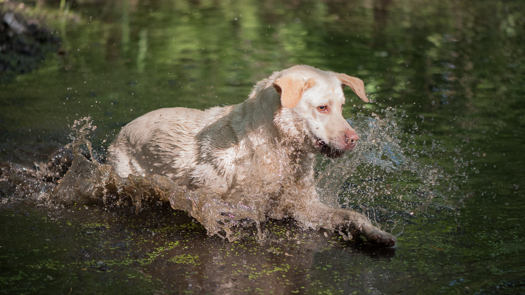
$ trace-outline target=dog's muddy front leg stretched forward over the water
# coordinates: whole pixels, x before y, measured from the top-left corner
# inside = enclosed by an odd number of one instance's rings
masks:
[[[362,234],[372,244],[385,247],[393,247],[396,243],[392,234],[373,226],[364,215],[353,210],[332,208],[322,204],[317,193],[314,193],[309,202],[300,202],[295,215],[299,222],[308,227],[348,230],[352,234]]]

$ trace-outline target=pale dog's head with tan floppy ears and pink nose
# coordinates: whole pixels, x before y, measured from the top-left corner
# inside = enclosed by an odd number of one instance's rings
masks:
[[[309,66],[276,74],[273,86],[282,107],[276,119],[282,127],[297,129],[314,149],[332,158],[355,148],[359,136],[343,118],[343,89],[349,86],[368,102],[363,81]]]

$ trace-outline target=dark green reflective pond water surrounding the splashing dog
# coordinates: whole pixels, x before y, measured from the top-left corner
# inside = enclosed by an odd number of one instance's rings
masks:
[[[0,292],[525,293],[521,1],[33,6],[24,13],[47,12],[64,51],[0,84]],[[348,92],[343,113],[361,150],[320,159],[318,182],[325,201],[391,230],[395,249],[293,220],[229,242],[166,203],[45,200],[60,175],[41,162],[74,120],[92,117],[103,161],[139,115],[238,103],[295,64],[365,82],[372,103]]]

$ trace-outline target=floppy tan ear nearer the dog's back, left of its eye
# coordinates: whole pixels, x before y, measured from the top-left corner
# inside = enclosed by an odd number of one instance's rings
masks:
[[[304,81],[301,77],[283,76],[274,81],[274,88],[281,96],[281,106],[291,109],[301,101],[302,94],[316,85],[316,80]]]

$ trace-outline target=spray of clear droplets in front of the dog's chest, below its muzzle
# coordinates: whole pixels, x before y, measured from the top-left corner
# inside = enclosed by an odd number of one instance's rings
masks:
[[[467,177],[463,160],[455,157],[452,164],[442,163],[440,153],[445,149],[435,141],[430,149],[416,149],[414,141],[409,145],[415,134],[404,134],[395,109],[382,110],[382,117],[348,120],[360,135],[358,146],[340,159],[318,159],[321,200],[350,207],[390,230],[430,204],[456,210],[463,196],[454,197],[450,191]],[[446,172],[442,165],[454,168]]]

